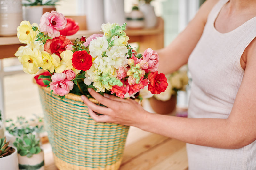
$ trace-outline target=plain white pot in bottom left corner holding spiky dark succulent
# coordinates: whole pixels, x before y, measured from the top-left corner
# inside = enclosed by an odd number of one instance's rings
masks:
[[[0,167],[3,170],[18,170],[18,154],[17,149],[12,146],[12,148],[15,149],[15,152],[13,152],[11,155],[5,156],[0,158]]]

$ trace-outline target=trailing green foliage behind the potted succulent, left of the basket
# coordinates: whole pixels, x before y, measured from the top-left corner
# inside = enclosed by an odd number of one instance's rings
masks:
[[[28,121],[25,117],[17,117],[16,122],[12,119],[5,120],[5,129],[14,136],[22,137],[24,134],[29,133],[41,133],[44,131],[43,118],[36,116],[36,119],[31,119]],[[39,125],[41,124],[41,125]]]

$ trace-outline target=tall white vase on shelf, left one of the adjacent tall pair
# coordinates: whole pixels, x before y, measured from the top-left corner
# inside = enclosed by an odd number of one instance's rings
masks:
[[[101,29],[104,23],[103,0],[87,0],[86,1],[86,22],[88,30]]]

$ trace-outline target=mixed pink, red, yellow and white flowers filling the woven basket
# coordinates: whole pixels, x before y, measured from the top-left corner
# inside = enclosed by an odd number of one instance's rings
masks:
[[[145,86],[152,94],[164,92],[167,79],[156,71],[159,56],[151,48],[137,54],[128,45],[126,24],[103,24],[104,34],[72,42],[62,35],[66,23],[63,14],[52,11],[42,16],[39,26],[22,21],[17,29],[20,42],[27,44],[15,53],[24,72],[47,70],[38,77],[44,79],[40,85],[62,99],[69,92],[89,97],[88,88],[121,98],[134,96]]]

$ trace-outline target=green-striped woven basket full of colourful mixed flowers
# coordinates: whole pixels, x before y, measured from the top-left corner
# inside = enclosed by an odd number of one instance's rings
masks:
[[[96,123],[80,95],[93,102],[88,88],[120,98],[138,98],[140,89],[164,92],[167,79],[158,74],[159,56],[151,48],[144,55],[128,45],[126,24],[102,24],[103,34],[69,40],[74,21],[56,11],[43,14],[39,26],[22,21],[17,36],[26,46],[15,53],[26,73],[36,74],[59,169],[118,169],[127,126]],[[73,25],[73,26],[70,26]],[[71,29],[70,29],[71,28]],[[77,28],[77,27],[76,27]],[[97,103],[99,104],[99,103]]]

